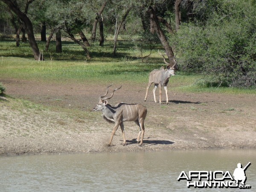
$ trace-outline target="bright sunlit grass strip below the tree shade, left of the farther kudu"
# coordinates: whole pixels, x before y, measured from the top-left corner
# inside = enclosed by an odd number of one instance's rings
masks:
[[[34,61],[28,58],[2,57],[2,78],[40,79],[47,81],[145,81],[157,64],[140,61]],[[158,68],[160,68],[158,66]]]

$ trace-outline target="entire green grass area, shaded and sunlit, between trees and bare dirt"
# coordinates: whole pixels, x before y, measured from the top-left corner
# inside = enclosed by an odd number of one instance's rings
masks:
[[[151,70],[160,69],[164,65],[158,55],[157,47],[145,62],[141,61],[140,42],[119,41],[117,56],[113,56],[113,42],[105,41],[104,47],[98,42],[89,47],[92,59],[85,57],[83,49],[72,41],[63,41],[63,52],[55,53],[55,42],[51,42],[49,51],[44,54],[44,61],[35,61],[29,44],[15,46],[15,41],[0,41],[0,79],[29,79],[52,82],[134,82],[147,84]],[[38,41],[40,50],[45,43]],[[144,50],[148,51],[149,50]],[[148,54],[144,52],[144,54]],[[200,87],[196,84],[203,76],[177,71],[170,78],[169,86],[182,92],[212,92],[212,93],[248,93],[255,94],[256,90],[237,89],[228,87]]]

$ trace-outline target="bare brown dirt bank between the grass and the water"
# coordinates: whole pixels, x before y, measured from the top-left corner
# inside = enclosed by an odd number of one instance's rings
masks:
[[[93,111],[106,84],[46,83],[1,79],[6,95],[58,110],[15,109],[12,98],[0,100],[0,155],[97,153],[119,151],[256,148],[256,95],[184,93],[172,91],[169,104],[154,103],[152,87],[144,102],[147,83],[122,85],[109,103],[141,103],[148,109],[143,145],[135,139],[139,129],[125,122],[127,145],[120,128],[107,146],[113,124]],[[119,84],[114,84],[113,88]],[[164,91],[163,91],[164,93]],[[157,89],[157,99],[158,96]],[[163,94],[162,100],[165,101]],[[61,110],[59,110],[61,108]],[[69,116],[69,109],[90,118]]]

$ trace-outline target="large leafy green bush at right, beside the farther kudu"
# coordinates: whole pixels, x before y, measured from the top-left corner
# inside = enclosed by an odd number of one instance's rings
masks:
[[[256,87],[256,6],[240,0],[218,3],[204,13],[204,23],[184,23],[170,37],[179,68],[206,74],[207,85]]]

